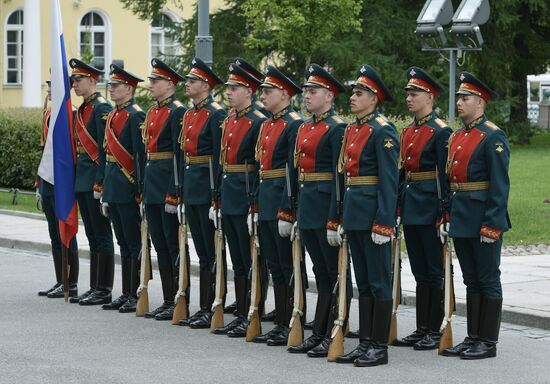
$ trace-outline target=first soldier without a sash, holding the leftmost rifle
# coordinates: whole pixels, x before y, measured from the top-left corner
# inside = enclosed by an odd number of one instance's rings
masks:
[[[143,180],[143,203],[151,240],[157,252],[164,302],[145,317],[172,320],[177,291],[178,253],[177,208],[174,156],[179,157],[178,137],[186,109],[176,99],[176,85],[184,78],[159,59],[151,60],[149,91],[156,105],[147,111],[142,128],[147,151]]]

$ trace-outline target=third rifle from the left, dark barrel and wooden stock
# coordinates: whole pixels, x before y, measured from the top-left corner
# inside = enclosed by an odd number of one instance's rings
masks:
[[[216,220],[216,232],[214,235],[214,248],[216,251],[216,298],[212,303],[212,321],[210,322],[210,330],[214,331],[216,328],[222,328],[224,326],[223,319],[223,302],[225,298],[225,271],[224,271],[224,239],[222,231],[222,221],[218,218],[218,204],[216,203],[216,189],[214,186],[214,170],[212,169],[212,160],[208,160],[208,169],[210,171],[210,194],[212,203],[215,207],[215,220]]]

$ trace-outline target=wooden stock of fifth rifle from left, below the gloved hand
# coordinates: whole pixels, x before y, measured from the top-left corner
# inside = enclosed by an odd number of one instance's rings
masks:
[[[290,333],[287,346],[300,345],[304,341],[302,315],[304,309],[304,287],[302,282],[302,241],[296,234],[292,242],[292,266],[294,269],[294,308],[290,319]]]

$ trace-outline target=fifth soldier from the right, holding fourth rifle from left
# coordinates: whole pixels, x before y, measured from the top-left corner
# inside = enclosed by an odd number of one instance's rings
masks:
[[[297,129],[303,120],[292,109],[290,101],[302,91],[271,65],[267,68],[261,87],[261,100],[271,112],[271,118],[262,124],[256,143],[256,161],[260,163],[258,236],[260,257],[267,261],[273,281],[276,326],[256,337],[254,342],[287,345],[293,298],[293,290],[289,285],[292,277],[292,243],[289,236],[295,217],[287,195],[286,168],[288,166],[292,170],[291,178],[297,177],[292,166],[294,144]]]

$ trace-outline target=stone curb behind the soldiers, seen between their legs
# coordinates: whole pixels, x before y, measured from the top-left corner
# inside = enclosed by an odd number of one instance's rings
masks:
[[[0,210],[0,213],[2,210]],[[34,214],[30,214],[34,215]],[[10,248],[10,249],[20,249],[25,251],[38,251],[42,253],[48,253],[50,252],[51,248],[49,244],[44,243],[37,243],[33,241],[21,241],[21,240],[12,240],[4,237],[0,237],[0,247],[3,248]],[[83,259],[90,258],[90,252],[88,250],[79,249],[78,250],[79,257]],[[115,254],[115,263],[120,264],[120,255]],[[151,264],[153,268],[158,269],[158,263],[157,260],[152,259]],[[199,265],[198,263],[191,263],[191,275],[193,276],[199,276]],[[227,280],[231,281],[233,280],[233,271],[228,270],[227,271]],[[317,293],[317,288],[315,285],[315,279],[308,278],[308,285],[307,292],[310,293]],[[354,297],[358,297],[359,293],[357,291],[357,287],[353,287],[353,295]],[[401,295],[401,304],[408,305],[408,306],[416,306],[416,296],[414,292],[412,291],[403,291]],[[507,306],[504,305],[502,308],[502,321],[506,323],[512,323],[517,325],[522,325],[526,327],[534,327],[534,328],[540,328],[545,330],[550,330],[550,317],[546,316],[540,316],[536,313],[527,313],[525,311],[518,311],[515,310],[514,306]],[[464,301],[457,301],[456,302],[456,315],[459,316],[466,316],[466,303]]]

